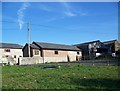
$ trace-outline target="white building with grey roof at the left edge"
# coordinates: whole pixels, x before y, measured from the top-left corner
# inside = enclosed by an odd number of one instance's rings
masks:
[[[17,64],[18,58],[23,57],[23,46],[13,43],[0,43],[0,63]]]

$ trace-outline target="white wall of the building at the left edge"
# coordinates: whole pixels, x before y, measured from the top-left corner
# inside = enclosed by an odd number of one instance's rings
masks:
[[[10,56],[15,60],[15,63],[18,63],[18,57],[23,57],[22,49],[10,49],[10,52],[5,52],[5,49],[7,48],[0,49],[0,58]]]

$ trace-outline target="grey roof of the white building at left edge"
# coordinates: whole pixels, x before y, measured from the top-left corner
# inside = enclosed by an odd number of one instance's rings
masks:
[[[23,46],[13,43],[0,43],[0,48],[12,48],[12,49],[22,49]]]

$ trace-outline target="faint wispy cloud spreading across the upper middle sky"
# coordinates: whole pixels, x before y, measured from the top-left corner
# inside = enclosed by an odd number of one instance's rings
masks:
[[[60,2],[59,5],[55,6],[48,6],[45,4],[39,4],[40,10],[46,11],[47,13],[52,14],[49,18],[45,19],[44,22],[53,22],[56,20],[61,20],[65,18],[75,17],[75,16],[86,16],[88,13],[83,12],[83,9],[79,8],[76,9],[73,5],[69,2]]]

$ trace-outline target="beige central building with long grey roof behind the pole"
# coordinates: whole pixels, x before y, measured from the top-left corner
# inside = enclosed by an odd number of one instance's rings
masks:
[[[23,56],[28,57],[28,44],[23,47]],[[42,57],[45,62],[68,62],[81,60],[81,50],[76,46],[33,42],[30,44],[30,56]]]

